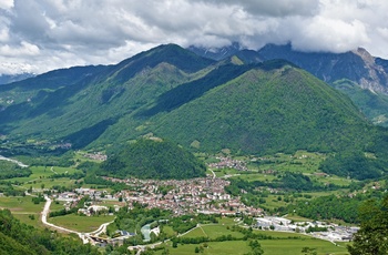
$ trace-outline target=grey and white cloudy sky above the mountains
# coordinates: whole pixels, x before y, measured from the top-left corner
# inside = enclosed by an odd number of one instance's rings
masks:
[[[162,43],[388,59],[387,0],[0,0],[0,73],[116,63]]]

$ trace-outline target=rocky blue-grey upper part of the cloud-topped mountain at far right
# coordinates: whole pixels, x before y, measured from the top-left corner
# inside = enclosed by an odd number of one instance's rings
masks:
[[[258,53],[263,60],[288,60],[328,83],[347,79],[363,89],[388,93],[388,61],[374,58],[361,48],[345,53],[327,53],[295,51],[290,44],[267,44]]]

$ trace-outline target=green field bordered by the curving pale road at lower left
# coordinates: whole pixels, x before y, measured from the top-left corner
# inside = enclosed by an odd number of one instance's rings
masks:
[[[88,233],[98,230],[101,224],[113,220],[114,216],[110,215],[88,217],[69,214],[65,216],[51,217],[49,218],[49,222],[69,230]]]

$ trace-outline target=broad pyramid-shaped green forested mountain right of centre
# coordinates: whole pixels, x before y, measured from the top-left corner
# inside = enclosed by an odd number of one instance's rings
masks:
[[[350,100],[287,62],[275,67],[264,63],[152,119],[155,133],[185,146],[261,154],[365,145],[358,134],[368,123]]]

